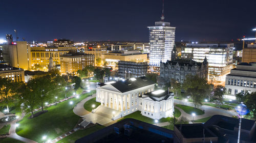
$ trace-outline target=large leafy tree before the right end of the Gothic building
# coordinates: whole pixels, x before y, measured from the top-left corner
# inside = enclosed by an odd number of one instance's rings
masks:
[[[186,94],[190,95],[193,99],[195,108],[197,105],[202,105],[205,95],[210,90],[210,85],[207,84],[207,81],[198,75],[187,75],[182,87]]]

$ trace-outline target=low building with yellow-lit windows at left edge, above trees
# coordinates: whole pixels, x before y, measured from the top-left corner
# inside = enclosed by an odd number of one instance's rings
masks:
[[[25,81],[24,69],[0,64],[0,77],[9,78],[13,82]]]

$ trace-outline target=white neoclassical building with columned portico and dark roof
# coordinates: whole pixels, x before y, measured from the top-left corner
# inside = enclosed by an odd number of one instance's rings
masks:
[[[140,110],[143,116],[161,119],[173,116],[174,94],[154,91],[155,83],[146,77],[137,77],[117,82],[107,82],[96,89],[96,101],[107,113],[113,110],[112,120]]]

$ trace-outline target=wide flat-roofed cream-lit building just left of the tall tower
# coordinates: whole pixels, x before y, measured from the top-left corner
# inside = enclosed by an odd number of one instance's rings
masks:
[[[113,70],[117,70],[119,61],[147,62],[147,54],[140,51],[113,51],[101,54],[101,60],[106,62]]]

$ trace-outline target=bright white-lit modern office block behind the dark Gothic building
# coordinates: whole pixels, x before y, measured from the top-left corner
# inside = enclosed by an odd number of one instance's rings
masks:
[[[191,44],[181,49],[181,58],[192,58],[196,62],[208,60],[208,81],[224,83],[226,75],[233,69],[234,44]]]

